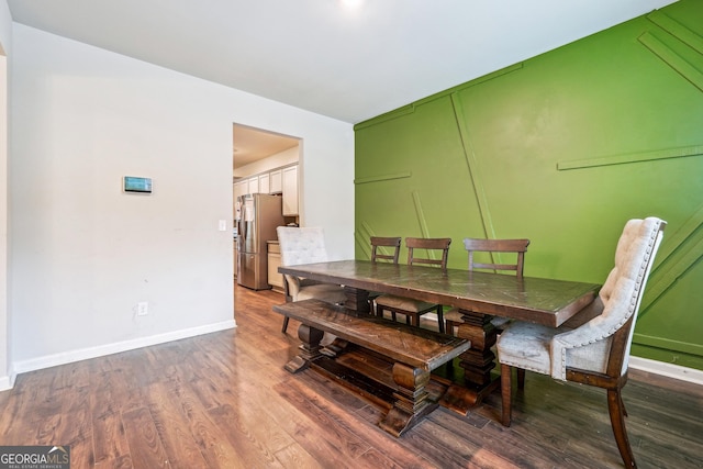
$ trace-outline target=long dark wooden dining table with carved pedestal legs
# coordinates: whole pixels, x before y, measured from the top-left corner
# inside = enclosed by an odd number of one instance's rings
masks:
[[[493,316],[528,321],[558,327],[588,306],[600,284],[547,278],[438,269],[425,266],[371,263],[369,260],[336,260],[279,267],[279,272],[325,283],[344,286],[346,312],[368,316],[369,292],[392,294],[457,308],[464,323],[457,336],[471,343],[458,357],[456,376],[453,368],[438,377],[448,383],[442,405],[466,414],[468,410],[500,384],[491,373],[495,367],[496,330]]]

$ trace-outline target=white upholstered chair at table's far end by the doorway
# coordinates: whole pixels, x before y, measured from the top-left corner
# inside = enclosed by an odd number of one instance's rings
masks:
[[[325,263],[328,260],[325,249],[325,234],[321,227],[276,228],[281,248],[281,266]],[[295,276],[283,276],[286,301],[302,301],[311,298],[333,304],[344,303],[344,288],[338,284],[321,283]],[[282,332],[288,328],[288,316],[283,317]]]

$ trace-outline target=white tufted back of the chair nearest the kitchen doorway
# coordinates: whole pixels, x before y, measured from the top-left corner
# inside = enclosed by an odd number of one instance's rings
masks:
[[[281,266],[328,260],[323,228],[279,226],[276,233],[281,247]]]

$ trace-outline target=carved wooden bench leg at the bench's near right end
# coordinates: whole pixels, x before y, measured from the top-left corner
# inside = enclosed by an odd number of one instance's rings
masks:
[[[379,426],[398,437],[434,411],[438,404],[427,399],[428,371],[397,362],[393,365],[393,381],[398,386],[398,391],[393,394],[395,402]]]

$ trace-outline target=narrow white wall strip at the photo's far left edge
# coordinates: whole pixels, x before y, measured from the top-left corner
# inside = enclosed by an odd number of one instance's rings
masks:
[[[0,391],[11,386],[9,261],[8,261],[8,57],[12,52],[12,19],[0,1]]]

